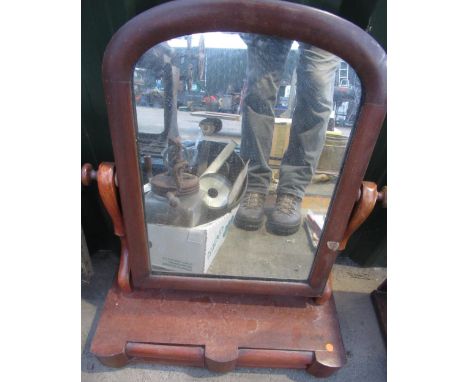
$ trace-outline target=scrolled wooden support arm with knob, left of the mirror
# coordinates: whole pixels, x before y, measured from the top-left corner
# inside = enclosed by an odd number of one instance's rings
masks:
[[[118,203],[116,173],[114,163],[102,162],[96,172],[92,165],[85,163],[81,168],[81,182],[88,186],[93,180],[97,180],[99,196],[110,215],[114,225],[114,233],[120,238],[120,266],[117,275],[117,283],[125,293],[130,293],[130,266],[128,262],[128,247],[125,237],[125,228]]]

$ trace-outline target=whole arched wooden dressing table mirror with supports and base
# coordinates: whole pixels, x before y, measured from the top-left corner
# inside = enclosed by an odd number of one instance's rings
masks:
[[[125,24],[103,83],[97,180],[121,261],[91,351],[229,371],[345,363],[331,268],[385,192],[363,180],[386,55],[337,16],[178,0]],[[260,211],[260,212],[259,212]]]

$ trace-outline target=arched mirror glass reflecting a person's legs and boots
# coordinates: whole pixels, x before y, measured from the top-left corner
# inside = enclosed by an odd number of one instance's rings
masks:
[[[133,80],[153,272],[306,280],[359,112],[353,69],[215,32],[154,46]]]

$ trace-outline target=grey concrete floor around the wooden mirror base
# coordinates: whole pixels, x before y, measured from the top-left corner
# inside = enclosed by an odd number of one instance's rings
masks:
[[[81,298],[82,381],[309,381],[302,370],[236,369],[217,374],[206,369],[157,364],[135,364],[121,369],[103,366],[89,351],[99,313],[118,266],[111,253],[92,257],[94,276],[83,285]],[[369,293],[386,278],[384,268],[359,268],[339,259],[333,269],[334,295],[347,364],[328,381],[386,381],[386,348]]]

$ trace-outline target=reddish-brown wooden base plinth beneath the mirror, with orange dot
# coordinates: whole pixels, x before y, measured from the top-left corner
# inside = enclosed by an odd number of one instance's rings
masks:
[[[181,291],[109,291],[91,352],[105,365],[128,363],[305,369],[327,377],[346,362],[333,296]]]

